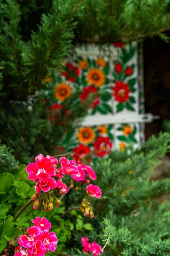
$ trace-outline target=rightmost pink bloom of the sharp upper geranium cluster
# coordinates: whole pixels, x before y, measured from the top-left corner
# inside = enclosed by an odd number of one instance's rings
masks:
[[[73,174],[76,175],[79,170],[72,160],[68,160],[66,157],[61,157],[59,160],[61,164],[61,174]]]

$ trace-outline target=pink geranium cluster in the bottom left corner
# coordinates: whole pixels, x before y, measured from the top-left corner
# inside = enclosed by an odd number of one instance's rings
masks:
[[[44,256],[45,252],[55,251],[58,239],[55,232],[49,233],[51,223],[44,217],[36,217],[32,222],[34,226],[27,229],[28,236],[20,236],[14,256]]]

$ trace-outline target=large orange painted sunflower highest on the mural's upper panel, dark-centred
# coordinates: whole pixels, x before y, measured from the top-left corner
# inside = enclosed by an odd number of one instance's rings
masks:
[[[87,82],[100,87],[105,82],[105,74],[99,68],[91,68],[87,73]]]

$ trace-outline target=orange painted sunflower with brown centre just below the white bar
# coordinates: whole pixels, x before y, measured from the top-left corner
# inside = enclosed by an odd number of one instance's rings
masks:
[[[83,127],[79,128],[77,138],[79,142],[84,142],[84,144],[91,143],[95,139],[95,132],[92,128]]]

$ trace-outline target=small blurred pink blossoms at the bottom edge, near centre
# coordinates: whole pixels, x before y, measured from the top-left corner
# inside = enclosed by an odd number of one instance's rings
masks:
[[[89,239],[87,237],[82,237],[81,243],[83,245],[84,253],[92,252],[93,256],[101,255],[102,246],[98,245],[95,241],[93,241],[92,244],[90,244]]]

